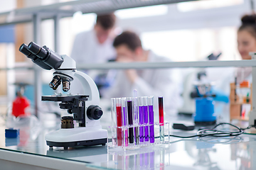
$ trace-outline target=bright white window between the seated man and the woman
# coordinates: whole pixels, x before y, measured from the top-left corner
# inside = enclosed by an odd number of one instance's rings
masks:
[[[203,28],[168,30],[141,34],[145,49],[176,62],[205,60],[211,53],[222,52],[220,60],[240,60],[237,50],[237,28]]]

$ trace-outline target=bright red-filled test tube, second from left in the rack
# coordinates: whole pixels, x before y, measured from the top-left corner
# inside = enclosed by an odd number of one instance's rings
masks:
[[[121,98],[116,98],[117,107],[117,146],[122,146],[122,104]]]

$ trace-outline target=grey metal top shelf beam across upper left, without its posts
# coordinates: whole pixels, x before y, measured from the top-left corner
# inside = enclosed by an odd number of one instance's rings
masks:
[[[176,4],[184,1],[197,0],[80,0],[68,1],[46,6],[19,8],[14,11],[0,13],[0,26],[16,23],[33,22],[33,14],[41,13],[41,19],[52,19],[55,16],[71,17],[76,11],[82,13],[109,13],[118,9]]]

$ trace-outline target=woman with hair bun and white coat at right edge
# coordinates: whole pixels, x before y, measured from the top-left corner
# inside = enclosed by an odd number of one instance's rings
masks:
[[[242,24],[238,28],[238,51],[242,60],[251,60],[249,52],[256,52],[256,14],[242,16],[241,22]],[[228,69],[230,70],[228,71]],[[235,81],[235,77],[237,77],[238,84],[243,80],[252,80],[252,67],[207,68],[206,70],[210,79],[217,81],[217,86],[222,84],[218,88],[225,90],[228,94],[230,93],[230,83]]]

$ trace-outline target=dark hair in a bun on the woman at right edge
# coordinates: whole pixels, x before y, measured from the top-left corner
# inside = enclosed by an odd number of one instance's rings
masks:
[[[241,21],[242,26],[240,26],[238,31],[247,30],[256,38],[256,14],[242,16]]]

